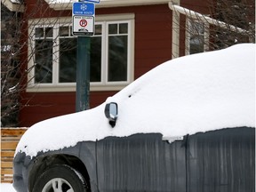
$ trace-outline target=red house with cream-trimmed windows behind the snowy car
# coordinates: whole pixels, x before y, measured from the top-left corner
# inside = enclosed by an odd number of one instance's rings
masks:
[[[255,41],[255,35],[248,36],[251,25],[237,27],[219,20],[218,1],[101,0],[96,4],[90,107],[166,60],[226,46],[212,37],[220,35],[216,28],[241,35],[236,42]],[[2,0],[7,3],[24,5],[20,65],[25,78],[19,125],[75,112],[77,37],[72,35],[72,1]],[[255,23],[255,2],[248,4],[253,13],[246,18]],[[236,43],[231,40],[229,44]]]

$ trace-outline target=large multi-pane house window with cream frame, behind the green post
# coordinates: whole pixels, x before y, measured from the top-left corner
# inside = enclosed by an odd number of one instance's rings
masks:
[[[120,90],[133,80],[133,17],[105,18],[96,20],[90,37],[92,91]],[[76,91],[77,37],[72,36],[72,23],[55,23],[31,28],[28,92]]]

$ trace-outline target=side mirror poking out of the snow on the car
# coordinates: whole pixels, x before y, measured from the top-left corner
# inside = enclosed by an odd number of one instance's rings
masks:
[[[109,124],[114,127],[118,115],[118,107],[116,102],[110,102],[105,106],[105,116],[109,120]]]

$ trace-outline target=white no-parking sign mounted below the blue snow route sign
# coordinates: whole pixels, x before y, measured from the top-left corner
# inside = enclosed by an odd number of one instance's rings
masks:
[[[94,17],[93,16],[73,16],[74,36],[93,36]]]

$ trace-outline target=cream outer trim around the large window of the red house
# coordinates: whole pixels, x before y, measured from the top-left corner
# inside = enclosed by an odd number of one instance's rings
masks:
[[[104,83],[91,83],[90,84],[90,91],[119,91],[123,89],[126,85],[132,83],[134,80],[134,36],[135,36],[135,25],[134,25],[134,18],[135,15],[134,13],[128,13],[128,14],[115,14],[115,15],[97,15],[95,22],[100,23],[100,22],[109,22],[109,21],[128,21],[129,23],[129,31],[128,31],[128,76],[127,76],[127,81],[126,82],[111,82],[108,84]],[[51,25],[57,25],[60,24],[61,26],[64,26],[65,24],[69,25],[72,23],[72,18],[60,18],[57,20],[56,18],[48,18],[48,19],[36,19],[36,20],[28,20],[28,36],[29,34],[32,33],[33,29],[35,27],[40,26],[40,23],[44,23],[42,26],[51,26]],[[105,29],[104,29],[105,30]],[[105,34],[105,31],[102,31],[102,34]],[[32,47],[35,47],[35,36],[32,36],[30,39],[28,39],[28,57],[32,55]],[[59,39],[59,38],[58,38]],[[107,40],[103,38],[102,40],[102,46],[103,44],[107,44]],[[59,46],[54,47],[54,52],[58,51]],[[104,49],[103,49],[104,50]],[[59,52],[57,53],[59,54]],[[103,52],[103,55],[101,57],[101,65],[102,65],[102,60],[105,60],[107,57],[107,52]],[[34,57],[34,56],[33,56]],[[31,58],[31,60],[28,60],[28,81],[29,79],[34,79],[32,78],[35,76],[35,69],[34,69],[34,58]],[[53,60],[54,62],[54,60]],[[53,68],[59,73],[58,66],[59,65],[54,65],[52,63],[52,70]],[[29,69],[30,68],[30,69]],[[105,78],[106,76],[103,74],[104,71],[106,71],[106,67],[103,65],[101,66],[101,77]],[[52,84],[34,84],[34,80],[32,82],[28,82],[27,86],[27,92],[76,92],[76,83],[61,83],[61,84],[54,84],[54,82],[57,82],[55,74],[52,76]],[[106,82],[103,80],[103,82]],[[102,80],[101,80],[102,81]]]

